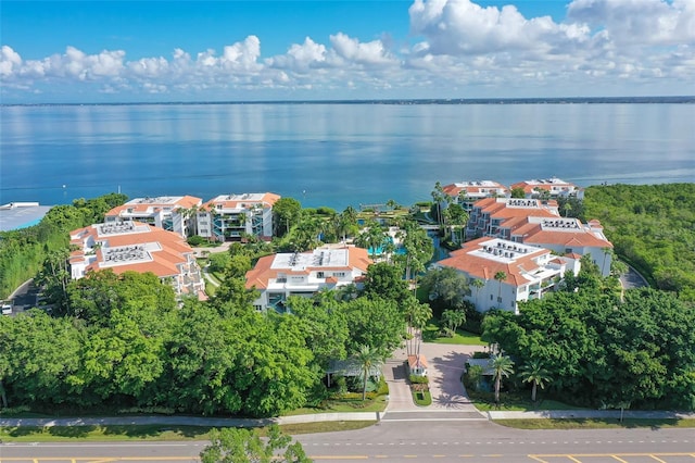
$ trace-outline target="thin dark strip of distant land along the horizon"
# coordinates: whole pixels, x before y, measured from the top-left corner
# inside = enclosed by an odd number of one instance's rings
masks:
[[[136,107],[136,105],[231,105],[231,104],[695,104],[695,96],[679,97],[567,97],[567,98],[432,98],[389,100],[257,100],[257,101],[134,101],[83,103],[11,103],[10,107]]]

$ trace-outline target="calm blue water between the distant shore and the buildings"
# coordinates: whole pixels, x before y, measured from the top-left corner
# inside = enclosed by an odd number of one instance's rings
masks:
[[[274,191],[403,204],[435,182],[695,182],[695,104],[2,107],[0,203]]]

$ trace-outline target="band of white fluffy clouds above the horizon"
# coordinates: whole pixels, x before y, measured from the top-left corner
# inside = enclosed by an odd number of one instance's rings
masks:
[[[253,35],[222,53],[175,48],[168,58],[131,61],[125,50],[88,54],[74,46],[24,59],[8,43],[0,49],[2,91],[21,99],[25,91],[47,95],[54,84],[77,83],[109,95],[253,90],[264,98],[270,89],[349,98],[389,90],[397,98],[448,98],[471,95],[466,88],[490,96],[601,95],[619,82],[623,95],[670,86],[693,93],[695,0],[573,0],[559,22],[472,0],[414,0],[408,12],[412,36],[397,50],[392,39],[363,41],[341,32],[328,43],[306,37],[269,58]]]

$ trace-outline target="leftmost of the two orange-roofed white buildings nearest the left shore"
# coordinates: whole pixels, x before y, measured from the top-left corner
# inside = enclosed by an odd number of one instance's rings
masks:
[[[193,211],[202,202],[193,196],[135,198],[106,212],[104,222],[137,221],[187,237],[194,232]]]

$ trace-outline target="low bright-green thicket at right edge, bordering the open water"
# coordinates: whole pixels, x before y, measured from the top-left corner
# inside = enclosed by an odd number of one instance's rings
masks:
[[[584,208],[621,259],[657,288],[695,302],[695,184],[592,186]]]

